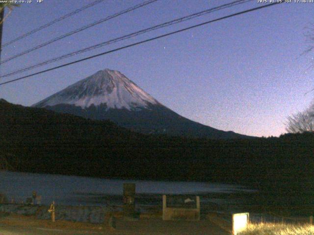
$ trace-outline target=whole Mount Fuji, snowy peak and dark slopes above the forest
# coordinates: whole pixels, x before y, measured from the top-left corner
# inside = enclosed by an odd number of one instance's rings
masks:
[[[159,103],[119,71],[105,69],[32,105],[90,119],[109,119],[136,132],[212,139],[250,138],[189,120]]]

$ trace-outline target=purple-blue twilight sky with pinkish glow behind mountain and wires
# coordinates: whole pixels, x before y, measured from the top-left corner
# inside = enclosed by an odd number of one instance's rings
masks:
[[[143,0],[105,0],[14,44],[1,59],[117,13]],[[125,34],[233,0],[158,0],[1,65],[5,74]],[[3,26],[2,43],[88,4],[91,0],[22,3]],[[18,78],[66,62],[148,39],[237,11],[260,6],[258,0],[24,72]],[[106,68],[121,71],[160,103],[191,120],[252,136],[285,133],[288,115],[305,109],[314,93],[313,54],[305,27],[314,23],[314,3],[283,3],[179,34],[113,52],[55,71],[0,86],[0,98],[32,105]]]

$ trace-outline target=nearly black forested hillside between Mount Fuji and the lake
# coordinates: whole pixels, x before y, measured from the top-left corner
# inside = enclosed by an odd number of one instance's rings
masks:
[[[97,177],[202,180],[312,188],[314,134],[209,140],[143,135],[0,102],[0,154],[17,170]]]

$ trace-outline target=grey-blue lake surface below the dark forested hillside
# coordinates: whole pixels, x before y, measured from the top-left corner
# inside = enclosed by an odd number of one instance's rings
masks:
[[[119,180],[0,171],[0,193],[5,193],[9,200],[14,199],[16,202],[25,202],[27,197],[31,197],[32,191],[36,191],[42,196],[42,204],[47,205],[53,200],[56,204],[67,205],[120,204],[124,183],[136,184],[139,198],[146,195],[147,198],[158,198],[159,202],[162,194],[204,195],[254,191],[238,185],[207,182]],[[208,197],[206,200],[220,202],[219,199],[210,200]]]

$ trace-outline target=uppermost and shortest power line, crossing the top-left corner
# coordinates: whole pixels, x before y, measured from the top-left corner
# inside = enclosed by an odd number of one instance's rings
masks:
[[[26,38],[27,36],[29,36],[29,35],[31,35],[31,34],[34,34],[34,33],[38,32],[38,31],[40,31],[40,30],[42,30],[42,29],[44,29],[44,28],[47,28],[47,27],[51,26],[52,24],[55,24],[55,23],[57,23],[57,22],[60,22],[60,21],[66,19],[66,18],[68,18],[68,17],[70,17],[70,16],[73,16],[73,15],[75,15],[75,14],[78,14],[79,12],[81,12],[81,11],[83,11],[83,10],[89,8],[89,7],[92,7],[92,6],[98,4],[98,3],[102,2],[102,1],[105,1],[105,0],[96,0],[96,1],[93,1],[93,2],[91,2],[91,3],[89,3],[89,4],[85,5],[85,6],[83,6],[83,7],[81,7],[81,8],[78,8],[77,10],[75,10],[75,11],[69,13],[69,14],[66,14],[66,15],[64,15],[64,16],[61,16],[60,18],[57,18],[57,19],[53,20],[52,22],[49,22],[49,23],[47,23],[47,24],[44,24],[44,25],[42,25],[42,26],[40,26],[40,27],[38,27],[38,28],[35,28],[35,29],[33,29],[33,30],[31,30],[31,31],[29,31],[29,32],[27,32],[27,33],[25,33],[25,34],[23,34],[23,35],[21,35],[21,36],[15,38],[15,39],[11,40],[11,41],[5,43],[5,44],[3,44],[2,48],[3,48],[3,47],[6,47],[6,46],[8,46],[8,45],[10,45],[10,44],[12,44],[12,43],[15,43],[16,41],[19,41],[19,40],[21,40],[22,38]]]

